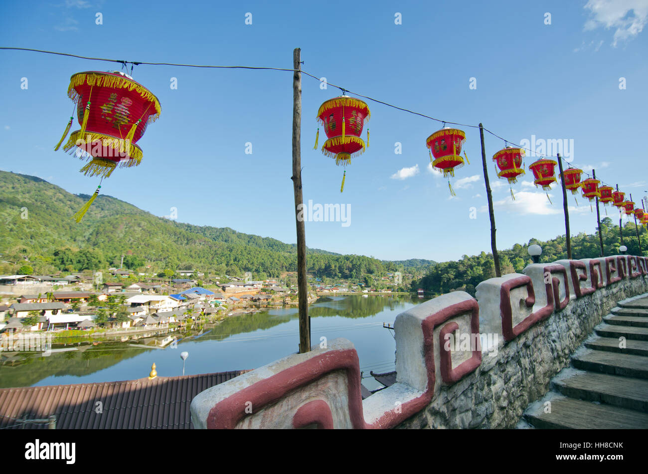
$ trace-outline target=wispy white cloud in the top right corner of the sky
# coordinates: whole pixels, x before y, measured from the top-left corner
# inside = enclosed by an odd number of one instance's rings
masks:
[[[590,10],[590,18],[586,21],[584,30],[613,28],[614,47],[619,41],[640,34],[648,20],[648,0],[588,0],[584,8]]]

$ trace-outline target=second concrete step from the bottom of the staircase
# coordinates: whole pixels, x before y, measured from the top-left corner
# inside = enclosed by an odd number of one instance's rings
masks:
[[[556,380],[552,385],[570,398],[648,413],[648,380],[581,372]]]

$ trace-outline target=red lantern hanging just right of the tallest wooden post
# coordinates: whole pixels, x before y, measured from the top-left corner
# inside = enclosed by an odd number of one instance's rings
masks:
[[[324,127],[327,141],[321,150],[325,155],[335,159],[338,166],[351,163],[351,158],[364,153],[369,146],[369,130],[367,130],[367,144],[360,138],[365,122],[371,117],[369,107],[365,102],[347,95],[327,100],[318,110],[318,122]],[[315,149],[318,148],[319,128],[315,139]],[[344,190],[344,180],[347,172],[342,177],[340,192]]]

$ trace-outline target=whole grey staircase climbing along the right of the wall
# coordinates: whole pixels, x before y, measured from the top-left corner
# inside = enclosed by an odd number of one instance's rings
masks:
[[[618,302],[523,420],[520,427],[648,428],[648,296]]]

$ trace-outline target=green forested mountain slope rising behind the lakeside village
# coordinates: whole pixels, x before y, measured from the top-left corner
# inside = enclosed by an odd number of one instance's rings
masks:
[[[38,177],[0,171],[0,273],[29,264],[34,273],[119,265],[135,269],[198,269],[216,275],[279,277],[296,271],[297,247],[233,229],[160,218],[111,196],[99,195],[91,212],[72,216],[89,196],[71,194]],[[407,261],[409,262],[409,261]],[[429,262],[429,261],[421,261]],[[360,255],[308,249],[308,272],[356,278],[404,270],[406,265]]]

